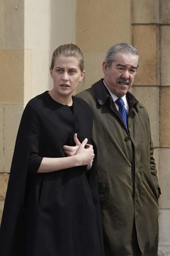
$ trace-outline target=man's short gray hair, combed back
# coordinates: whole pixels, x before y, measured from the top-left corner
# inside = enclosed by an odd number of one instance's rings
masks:
[[[139,57],[138,50],[135,49],[132,45],[129,45],[127,43],[121,43],[121,44],[116,44],[114,46],[111,46],[111,48],[108,49],[108,52],[106,53],[105,61],[107,62],[109,69],[111,68],[112,63],[115,61],[115,54],[119,52],[137,55],[138,67],[139,67],[140,57]]]

